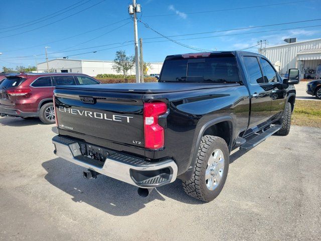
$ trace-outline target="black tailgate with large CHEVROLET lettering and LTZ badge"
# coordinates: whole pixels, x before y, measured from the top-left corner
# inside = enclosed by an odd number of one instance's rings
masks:
[[[143,102],[137,93],[55,89],[59,130],[144,147]]]

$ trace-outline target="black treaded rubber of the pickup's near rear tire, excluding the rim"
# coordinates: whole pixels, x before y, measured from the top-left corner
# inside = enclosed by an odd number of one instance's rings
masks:
[[[210,190],[207,187],[207,180],[205,178],[205,174],[206,169],[208,168],[210,155],[214,154],[214,151],[217,149],[221,150],[223,153],[224,170],[217,187],[214,190]],[[195,162],[192,178],[189,181],[182,181],[184,191],[191,197],[197,198],[204,202],[210,202],[213,199],[215,199],[222,191],[227,178],[230,161],[229,156],[229,150],[224,139],[210,135],[203,136],[197,154],[197,159]]]

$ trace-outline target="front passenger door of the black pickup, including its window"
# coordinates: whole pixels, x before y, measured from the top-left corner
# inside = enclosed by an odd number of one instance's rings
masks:
[[[268,82],[268,89],[271,89],[271,113],[270,121],[279,119],[285,108],[286,91],[282,85],[282,79],[265,58],[259,58],[265,81]]]

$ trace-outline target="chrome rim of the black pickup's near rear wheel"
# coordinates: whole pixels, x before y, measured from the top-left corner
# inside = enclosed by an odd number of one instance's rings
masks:
[[[211,154],[205,172],[206,186],[213,191],[221,182],[224,173],[224,154],[222,150],[216,149]]]

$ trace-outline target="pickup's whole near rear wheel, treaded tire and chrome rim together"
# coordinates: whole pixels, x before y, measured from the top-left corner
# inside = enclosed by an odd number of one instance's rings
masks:
[[[184,191],[191,197],[210,202],[223,189],[229,170],[229,150],[224,139],[202,137],[192,178],[183,181]]]

